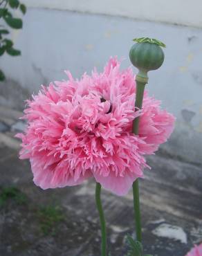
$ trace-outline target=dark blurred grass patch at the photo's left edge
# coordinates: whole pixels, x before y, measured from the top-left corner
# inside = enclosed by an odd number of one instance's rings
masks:
[[[5,205],[10,199],[18,204],[27,202],[27,196],[16,187],[0,188],[0,206]]]

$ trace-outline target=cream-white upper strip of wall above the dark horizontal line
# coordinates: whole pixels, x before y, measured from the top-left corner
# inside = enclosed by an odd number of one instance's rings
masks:
[[[54,8],[202,28],[201,0],[24,0],[28,7]]]

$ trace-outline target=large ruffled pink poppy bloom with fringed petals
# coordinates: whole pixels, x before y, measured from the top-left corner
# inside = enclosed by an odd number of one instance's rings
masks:
[[[143,176],[145,155],[153,154],[172,133],[174,116],[145,93],[143,109],[135,112],[136,84],[131,68],[120,71],[111,58],[102,73],[96,70],[74,80],[42,86],[28,100],[28,127],[20,158],[29,158],[34,182],[43,189],[77,185],[94,176],[104,188],[123,195]],[[140,134],[131,133],[140,118]]]

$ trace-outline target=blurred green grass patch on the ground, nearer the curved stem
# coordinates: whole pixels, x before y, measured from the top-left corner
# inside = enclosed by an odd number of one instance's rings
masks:
[[[44,235],[55,235],[57,223],[64,220],[62,209],[55,205],[40,208],[38,217]]]

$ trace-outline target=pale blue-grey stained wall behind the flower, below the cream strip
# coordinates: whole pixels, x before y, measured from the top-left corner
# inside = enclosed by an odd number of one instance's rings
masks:
[[[21,57],[3,56],[0,66],[8,78],[1,84],[0,103],[23,108],[23,100],[40,84],[62,80],[64,69],[74,77],[93,66],[98,70],[112,55],[129,66],[131,39],[154,37],[167,44],[165,64],[149,74],[149,92],[177,117],[176,129],[166,144],[169,154],[202,162],[202,30],[92,15],[66,10],[29,8],[24,29],[12,38]]]

